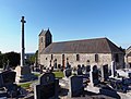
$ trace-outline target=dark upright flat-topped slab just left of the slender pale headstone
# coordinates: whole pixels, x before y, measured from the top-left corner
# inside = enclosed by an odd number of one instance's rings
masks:
[[[108,79],[108,64],[102,66],[102,81]]]

